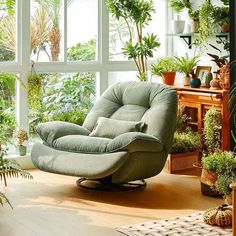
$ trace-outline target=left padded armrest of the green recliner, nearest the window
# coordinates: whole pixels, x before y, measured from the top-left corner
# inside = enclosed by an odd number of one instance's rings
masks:
[[[38,124],[35,131],[39,134],[40,138],[52,146],[55,139],[66,135],[89,135],[90,131],[86,128],[64,121],[52,121]]]

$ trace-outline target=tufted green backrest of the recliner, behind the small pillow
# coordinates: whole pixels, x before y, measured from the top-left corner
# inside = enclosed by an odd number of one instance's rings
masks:
[[[177,94],[171,87],[150,82],[120,82],[97,100],[83,126],[92,130],[98,117],[143,121],[145,133],[169,149],[176,127]]]

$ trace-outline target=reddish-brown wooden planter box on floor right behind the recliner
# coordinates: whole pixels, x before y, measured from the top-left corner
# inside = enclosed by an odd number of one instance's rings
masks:
[[[170,174],[195,169],[194,163],[199,162],[199,152],[185,152],[169,154],[167,159],[167,171]]]

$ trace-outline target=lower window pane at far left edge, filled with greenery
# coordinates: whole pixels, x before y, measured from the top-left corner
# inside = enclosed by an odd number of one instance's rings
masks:
[[[16,125],[15,81],[16,75],[0,74],[0,137],[8,141]]]

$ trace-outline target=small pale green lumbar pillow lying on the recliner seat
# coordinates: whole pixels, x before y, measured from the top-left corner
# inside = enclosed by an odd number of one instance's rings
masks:
[[[94,130],[89,134],[92,137],[115,138],[127,132],[141,132],[144,123],[140,121],[124,121],[99,117]]]

